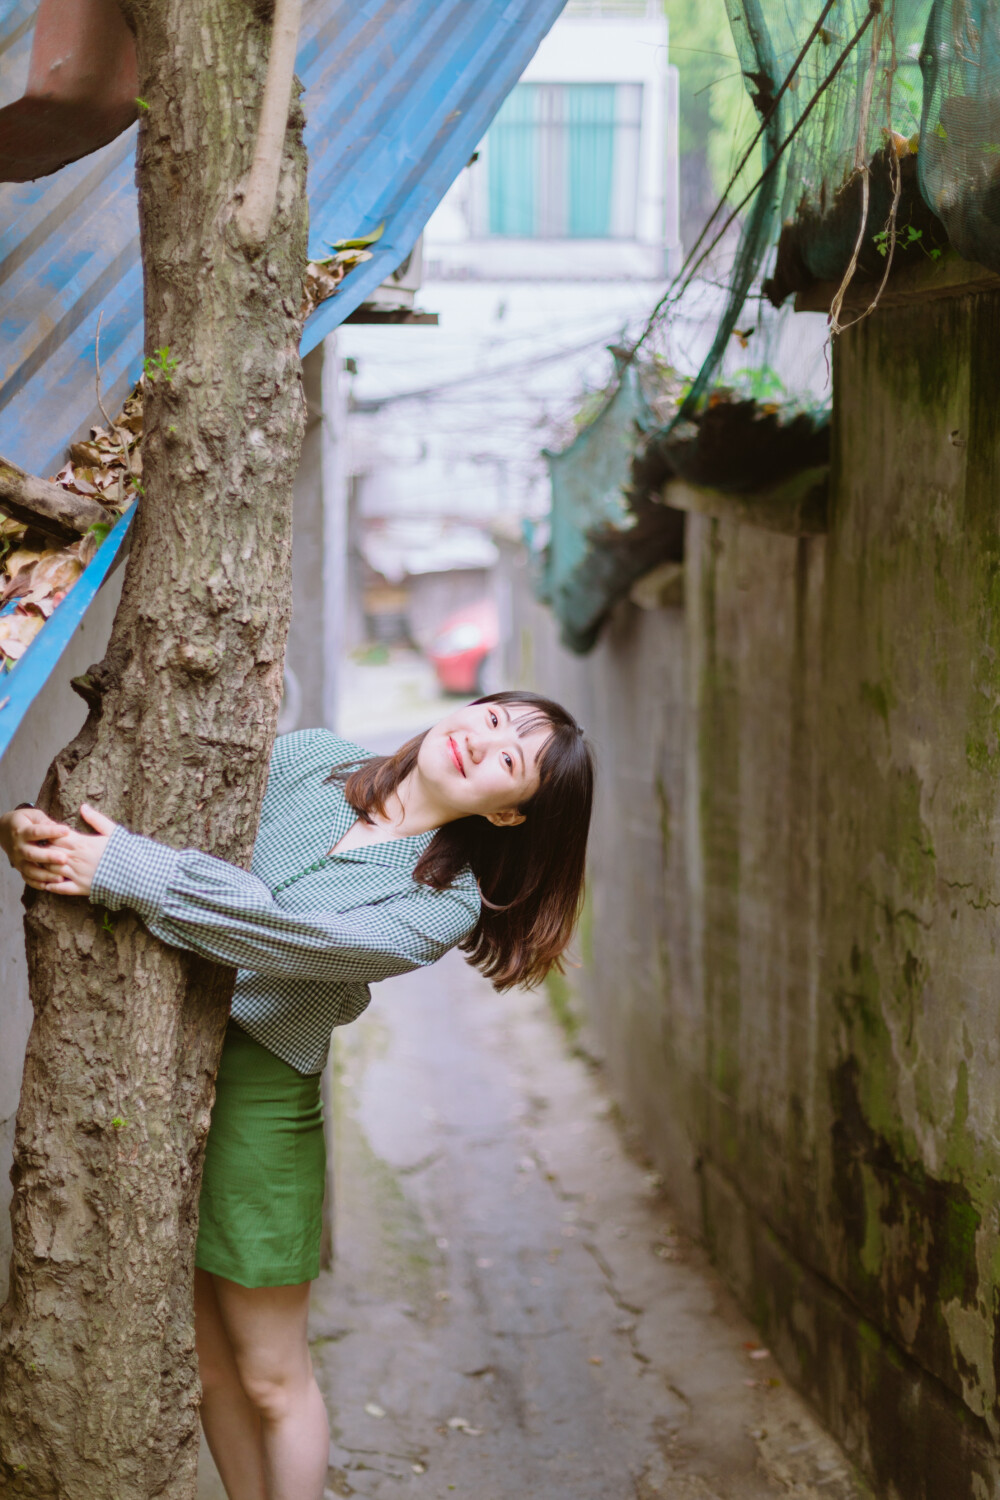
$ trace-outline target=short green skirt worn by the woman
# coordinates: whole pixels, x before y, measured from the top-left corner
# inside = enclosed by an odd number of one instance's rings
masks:
[[[327,1150],[319,1074],[229,1023],[205,1146],[195,1264],[243,1287],[319,1275]]]

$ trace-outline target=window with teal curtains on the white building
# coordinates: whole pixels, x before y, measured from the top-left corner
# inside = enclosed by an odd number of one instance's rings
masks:
[[[487,136],[489,232],[631,238],[642,84],[517,84]]]

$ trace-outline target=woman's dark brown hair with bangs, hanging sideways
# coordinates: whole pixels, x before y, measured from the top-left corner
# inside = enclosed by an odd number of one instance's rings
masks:
[[[445,824],[418,860],[414,879],[444,890],[466,866],[472,870],[483,908],[460,946],[498,990],[508,990],[562,970],[583,902],[594,754],[573,714],[549,698],[511,690],[475,702],[528,708],[522,734],[549,726],[538,756],[538,790],[519,807],[525,820],[513,828],[496,828],[478,814]],[[417,764],[423,740],[415,735],[394,754],[372,756],[354,770],[334,768],[331,780],[343,780],[343,795],[358,818],[370,822],[372,813],[385,813],[385,802]]]

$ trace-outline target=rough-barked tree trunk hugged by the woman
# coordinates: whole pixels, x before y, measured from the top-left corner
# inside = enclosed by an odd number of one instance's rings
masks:
[[[136,33],[145,495],[90,717],[42,795],[249,862],[282,688],[303,432],[294,93],[259,250],[234,224],[271,33],[252,0],[121,0]],[[81,380],[90,378],[81,370]],[[76,824],[76,826],[81,826]],[[30,897],[34,1024],[0,1341],[0,1492],[193,1496],[201,1156],[232,974]]]

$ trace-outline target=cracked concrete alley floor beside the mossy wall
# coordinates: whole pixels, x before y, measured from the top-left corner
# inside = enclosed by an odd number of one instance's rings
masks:
[[[378,986],[336,1034],[334,1095],[330,1500],[870,1496],[543,994],[496,996],[457,954]]]

